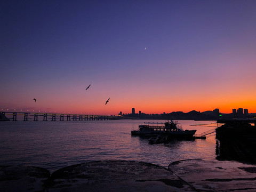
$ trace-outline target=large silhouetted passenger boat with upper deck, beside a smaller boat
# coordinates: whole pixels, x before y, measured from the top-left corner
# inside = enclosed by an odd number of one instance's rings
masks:
[[[152,124],[152,125],[149,125]],[[154,125],[156,124],[156,125]],[[144,125],[139,125],[139,130],[131,131],[132,135],[141,135],[153,137],[154,135],[166,135],[169,139],[171,138],[182,138],[188,139],[193,138],[196,130],[183,130],[177,122],[167,121],[163,125],[159,123],[145,123]]]

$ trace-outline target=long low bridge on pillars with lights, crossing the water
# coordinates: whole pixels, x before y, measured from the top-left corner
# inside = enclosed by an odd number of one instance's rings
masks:
[[[80,115],[80,114],[57,114],[57,113],[31,113],[31,112],[13,112],[13,111],[1,111],[2,116],[12,119],[12,121],[17,121],[17,116],[21,116],[23,121],[28,121],[28,117],[34,118],[34,121],[42,119],[43,121],[97,121],[97,120],[114,120],[120,119],[116,115]],[[11,116],[11,117],[10,117]],[[21,119],[22,119],[21,118]]]

